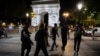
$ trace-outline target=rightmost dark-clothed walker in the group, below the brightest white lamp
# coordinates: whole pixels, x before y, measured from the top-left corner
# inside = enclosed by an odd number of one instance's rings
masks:
[[[81,24],[77,22],[75,25],[75,34],[74,34],[74,51],[75,51],[74,55],[78,55],[83,31],[84,30]]]

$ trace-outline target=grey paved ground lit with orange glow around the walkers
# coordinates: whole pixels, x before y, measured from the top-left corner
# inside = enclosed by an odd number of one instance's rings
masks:
[[[31,39],[34,41],[34,34],[32,33]],[[50,47],[52,44],[52,40],[49,38]],[[73,56],[73,33],[70,34],[70,39],[68,40],[67,46],[65,48],[65,52],[61,51],[61,38],[57,38],[58,48],[55,48],[54,51],[49,51],[50,47],[48,47],[49,56]],[[32,46],[30,56],[34,55],[35,51],[35,41]],[[0,56],[20,56],[21,53],[21,42],[20,42],[20,34],[9,34],[8,38],[0,39]],[[39,56],[44,56],[40,51]],[[96,40],[92,40],[91,37],[83,36],[83,40],[80,47],[79,56],[100,56],[100,37],[96,37]]]

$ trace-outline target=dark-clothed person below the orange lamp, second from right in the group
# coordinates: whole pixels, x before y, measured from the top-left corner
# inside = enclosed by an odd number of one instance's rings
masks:
[[[62,51],[65,50],[65,46],[67,44],[67,36],[68,36],[68,26],[64,24],[61,28],[61,37],[62,37]]]

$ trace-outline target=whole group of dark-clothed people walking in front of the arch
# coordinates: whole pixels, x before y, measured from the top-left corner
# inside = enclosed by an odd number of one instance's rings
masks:
[[[28,27],[29,26],[26,25],[21,31],[21,41],[22,41],[21,56],[24,56],[25,50],[27,50],[26,56],[29,56],[31,46],[34,44],[30,39],[31,33],[28,31]],[[78,51],[81,43],[82,31],[83,29],[81,27],[81,24],[77,22],[75,25],[75,34],[74,34],[74,51],[75,51],[74,55],[78,55]],[[53,43],[50,48],[50,51],[53,51],[54,47],[56,48],[58,47],[58,45],[56,44],[56,37],[57,36],[59,37],[57,24],[54,24],[54,27],[51,30],[51,35],[52,35]],[[45,56],[48,56],[47,46],[50,46],[50,44],[48,43],[48,37],[49,37],[49,33],[48,33],[47,25],[40,24],[39,30],[35,34],[36,50],[34,56],[38,56],[40,50],[43,51]],[[65,46],[67,45],[68,37],[69,37],[69,28],[68,25],[65,23],[61,27],[62,51],[65,51]]]

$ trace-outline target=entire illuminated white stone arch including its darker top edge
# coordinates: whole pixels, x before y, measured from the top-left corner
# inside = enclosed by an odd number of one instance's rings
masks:
[[[55,23],[59,25],[59,10],[60,5],[58,0],[38,0],[32,1],[32,10],[34,17],[32,17],[31,24],[39,26],[41,22],[54,26]],[[47,17],[45,15],[47,14]]]

